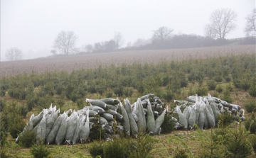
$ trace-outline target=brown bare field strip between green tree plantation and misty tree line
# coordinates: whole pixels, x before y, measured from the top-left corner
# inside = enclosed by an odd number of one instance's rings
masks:
[[[132,64],[133,62],[156,63],[161,60],[188,60],[242,54],[256,54],[255,45],[230,45],[171,50],[134,50],[0,62],[0,77],[22,74],[23,72],[30,73],[32,71],[42,73],[66,70],[71,72],[75,69],[90,69],[99,67],[100,65]]]

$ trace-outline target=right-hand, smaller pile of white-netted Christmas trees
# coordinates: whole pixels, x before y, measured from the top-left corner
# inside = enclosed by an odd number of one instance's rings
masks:
[[[245,120],[245,111],[240,106],[222,101],[210,96],[188,96],[186,101],[174,100],[178,104],[174,110],[178,114],[176,128],[193,129],[196,124],[199,128],[214,128],[218,122],[218,115],[227,111],[233,114],[235,120]],[[181,106],[184,107],[181,112]]]

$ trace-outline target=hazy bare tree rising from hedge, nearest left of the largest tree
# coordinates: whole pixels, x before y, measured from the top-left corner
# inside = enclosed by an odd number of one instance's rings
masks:
[[[174,29],[167,28],[165,26],[162,26],[162,27],[158,28],[157,30],[153,30],[154,34],[152,37],[152,41],[153,42],[164,41],[170,37],[170,35],[173,31],[174,31]]]

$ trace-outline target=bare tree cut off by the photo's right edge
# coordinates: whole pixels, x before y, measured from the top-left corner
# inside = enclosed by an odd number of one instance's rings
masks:
[[[256,8],[246,18],[245,33],[246,35],[256,35]]]

